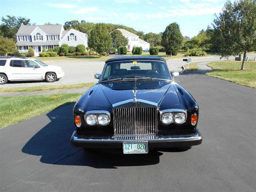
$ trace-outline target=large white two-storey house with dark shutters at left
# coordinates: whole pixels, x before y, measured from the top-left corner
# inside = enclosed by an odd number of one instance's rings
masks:
[[[35,56],[46,50],[66,43],[69,46],[83,44],[88,47],[88,35],[74,29],[64,30],[62,25],[21,25],[17,34],[17,49],[28,52],[31,46]]]

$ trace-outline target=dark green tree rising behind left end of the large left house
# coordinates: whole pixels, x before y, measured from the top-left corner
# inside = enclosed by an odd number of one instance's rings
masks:
[[[7,15],[6,18],[1,18],[2,24],[0,25],[0,34],[4,37],[16,39],[20,25],[30,25],[30,19],[25,17],[15,17]]]

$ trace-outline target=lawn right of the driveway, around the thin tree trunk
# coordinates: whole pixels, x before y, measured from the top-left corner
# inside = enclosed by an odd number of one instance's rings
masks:
[[[208,66],[213,70],[206,74],[240,85],[256,88],[256,61],[245,62],[245,70],[240,70],[241,65],[241,61],[211,62]]]

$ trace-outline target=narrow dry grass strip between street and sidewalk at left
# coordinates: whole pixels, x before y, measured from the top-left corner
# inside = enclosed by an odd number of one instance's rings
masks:
[[[49,91],[49,90],[58,90],[58,89],[76,89],[76,88],[91,87],[94,84],[96,84],[96,83],[80,83],[80,84],[70,84],[70,85],[50,85],[50,86],[1,88],[0,93]]]

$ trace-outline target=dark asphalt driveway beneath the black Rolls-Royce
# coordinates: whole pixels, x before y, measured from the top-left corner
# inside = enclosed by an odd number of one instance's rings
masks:
[[[0,191],[256,191],[255,89],[186,73],[204,140],[123,155],[70,146],[74,104],[0,130]]]

